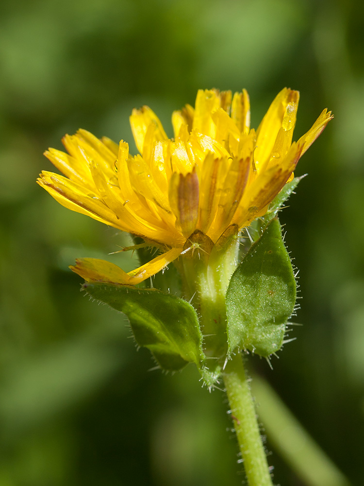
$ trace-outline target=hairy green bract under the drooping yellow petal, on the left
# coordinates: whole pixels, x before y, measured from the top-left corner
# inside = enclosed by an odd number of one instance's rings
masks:
[[[165,370],[176,371],[204,362],[202,334],[192,305],[156,289],[138,289],[104,282],[85,283],[91,297],[109,304],[129,318],[139,346],[148,347]]]

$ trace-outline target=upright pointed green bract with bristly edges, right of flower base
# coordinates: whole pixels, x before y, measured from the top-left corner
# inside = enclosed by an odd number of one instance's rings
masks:
[[[232,275],[226,293],[228,344],[261,356],[278,351],[296,302],[296,280],[278,218]]]

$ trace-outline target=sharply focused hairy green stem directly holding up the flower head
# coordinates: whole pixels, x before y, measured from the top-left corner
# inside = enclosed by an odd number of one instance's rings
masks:
[[[223,376],[248,484],[272,486],[254,401],[240,353],[228,361]]]

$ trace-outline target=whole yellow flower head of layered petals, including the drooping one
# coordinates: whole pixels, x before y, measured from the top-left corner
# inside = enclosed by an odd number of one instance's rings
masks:
[[[66,177],[43,172],[38,183],[66,208],[163,250],[129,274],[95,259],[80,260],[74,270],[86,280],[136,284],[177,259],[196,230],[216,243],[229,226],[242,228],[264,215],[332,118],[325,109],[292,143],[298,98],[298,91],[282,89],[255,131],[246,90],[233,96],[199,90],[195,108],[173,112],[174,139],[148,106],[134,109],[136,156],[123,140],[117,145],[85,130],[66,135],[68,154],[45,153]]]

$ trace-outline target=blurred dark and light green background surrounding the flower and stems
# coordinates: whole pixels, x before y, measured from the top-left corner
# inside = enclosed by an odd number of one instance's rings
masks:
[[[242,483],[223,393],[202,389],[192,365],[148,371],[123,317],[84,298],[68,269],[125,235],[61,207],[35,178],[52,170],[42,152],[80,127],[132,141],[134,106],[171,134],[172,110],[198,88],[246,87],[257,127],[284,86],[301,93],[294,139],[325,107],[335,119],[281,213],[304,326],[274,371],[250,361],[363,484],[363,21],[352,0],[2,1],[0,486]],[[267,448],[276,483],[305,484],[269,437]]]

